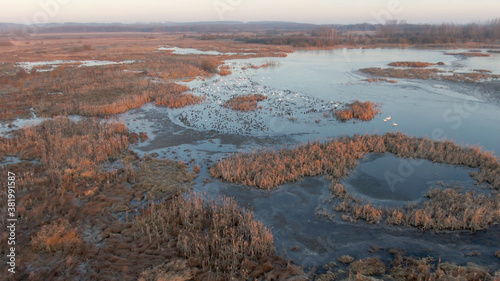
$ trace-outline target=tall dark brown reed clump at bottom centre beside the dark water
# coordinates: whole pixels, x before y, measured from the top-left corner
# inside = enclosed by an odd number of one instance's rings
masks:
[[[134,225],[152,245],[165,241],[189,261],[195,279],[285,279],[303,275],[276,254],[269,229],[229,198],[206,202],[198,195],[151,205]],[[305,279],[301,279],[305,280]]]

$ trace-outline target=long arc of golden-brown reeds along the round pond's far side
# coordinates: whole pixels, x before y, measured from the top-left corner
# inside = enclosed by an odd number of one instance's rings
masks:
[[[274,151],[233,154],[212,166],[210,174],[229,182],[272,189],[304,176],[345,177],[356,167],[358,159],[374,152],[479,168],[472,176],[478,182],[489,183],[493,189],[500,189],[500,164],[492,153],[478,147],[461,147],[452,141],[433,141],[402,133],[354,135]]]

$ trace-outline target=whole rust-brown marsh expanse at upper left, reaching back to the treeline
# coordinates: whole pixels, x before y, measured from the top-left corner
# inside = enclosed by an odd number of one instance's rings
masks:
[[[180,47],[240,53],[241,42],[192,38],[179,39],[170,34],[36,34],[13,37],[0,54],[0,120],[10,121],[31,116],[78,114],[106,116],[137,108],[147,102],[168,107],[184,107],[202,101],[186,94],[189,89],[175,84],[179,80],[229,74],[223,60],[231,58],[282,56],[287,48],[253,46],[249,55],[177,55],[158,50],[159,46]],[[85,46],[83,48],[82,46]],[[82,48],[80,48],[82,47]],[[75,52],[75,48],[79,51]],[[80,49],[81,50],[80,50]],[[285,54],[286,56],[286,54]],[[66,61],[59,66],[38,65],[27,72],[16,63]],[[111,61],[112,65],[82,66],[81,61]],[[120,64],[128,61],[129,63]],[[75,79],[75,78],[78,79]]]

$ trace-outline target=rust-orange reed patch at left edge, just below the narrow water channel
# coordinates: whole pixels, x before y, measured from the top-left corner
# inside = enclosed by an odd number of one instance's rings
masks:
[[[52,169],[84,171],[117,157],[128,147],[127,135],[124,124],[106,124],[97,119],[73,122],[57,117],[1,138],[0,153],[38,160]]]

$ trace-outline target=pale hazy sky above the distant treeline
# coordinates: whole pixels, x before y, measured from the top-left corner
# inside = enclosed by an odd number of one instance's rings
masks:
[[[485,22],[500,0],[0,0],[0,22]]]

